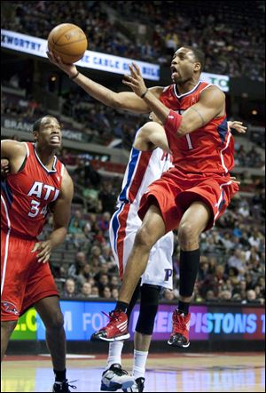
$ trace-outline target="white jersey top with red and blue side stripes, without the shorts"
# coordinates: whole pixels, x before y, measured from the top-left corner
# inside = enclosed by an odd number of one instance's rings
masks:
[[[160,179],[161,173],[173,166],[172,157],[161,148],[153,151],[140,151],[132,148],[125,176],[122,182],[118,205],[121,203],[134,204],[137,209],[140,199],[148,186]]]

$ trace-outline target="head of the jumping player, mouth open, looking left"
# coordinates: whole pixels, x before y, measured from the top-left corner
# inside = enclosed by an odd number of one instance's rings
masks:
[[[175,84],[184,84],[194,75],[199,68],[199,62],[195,61],[194,54],[187,48],[179,48],[171,62],[172,81]]]

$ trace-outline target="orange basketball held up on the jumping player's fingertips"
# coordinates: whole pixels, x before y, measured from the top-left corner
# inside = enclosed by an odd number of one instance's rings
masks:
[[[48,49],[66,64],[81,60],[87,46],[87,37],[82,29],[71,23],[58,25],[48,36]]]

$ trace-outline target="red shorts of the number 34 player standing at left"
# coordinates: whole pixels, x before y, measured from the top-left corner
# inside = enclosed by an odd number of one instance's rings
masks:
[[[59,296],[49,263],[31,253],[35,243],[1,231],[1,321],[16,321],[36,301]]]

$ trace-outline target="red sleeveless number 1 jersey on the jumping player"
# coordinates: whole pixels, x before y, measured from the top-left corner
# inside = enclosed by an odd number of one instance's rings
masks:
[[[160,101],[180,115],[200,100],[200,93],[212,84],[199,82],[190,92],[179,94],[171,84],[160,94]],[[234,166],[234,141],[226,115],[216,117],[182,138],[168,134],[173,164],[182,172],[227,173]]]

